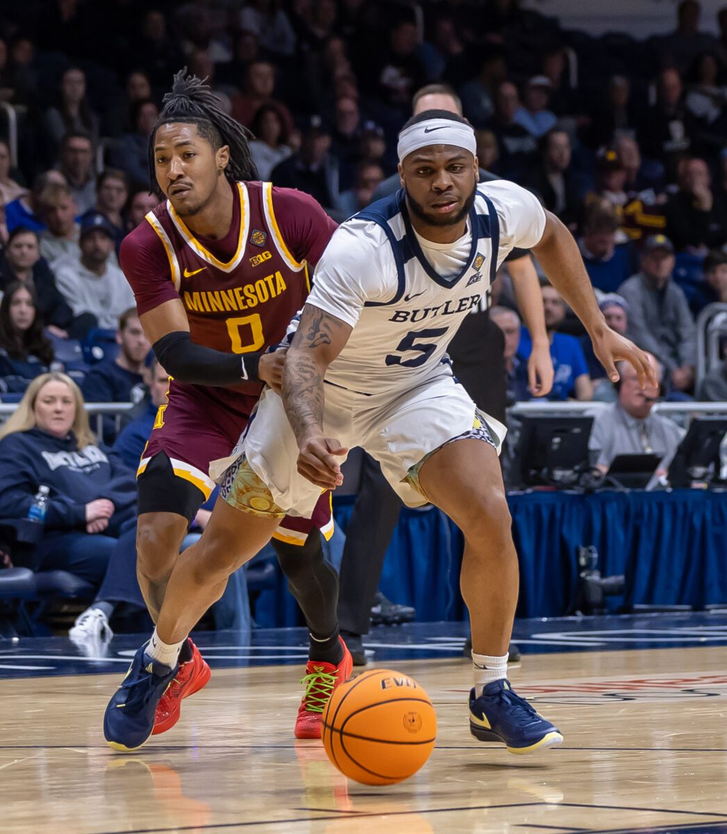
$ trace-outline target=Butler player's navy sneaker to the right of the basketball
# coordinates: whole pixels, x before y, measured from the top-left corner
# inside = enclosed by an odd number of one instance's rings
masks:
[[[516,695],[509,681],[494,681],[479,698],[469,693],[469,731],[479,741],[502,741],[511,753],[533,753],[563,736],[528,701]]]

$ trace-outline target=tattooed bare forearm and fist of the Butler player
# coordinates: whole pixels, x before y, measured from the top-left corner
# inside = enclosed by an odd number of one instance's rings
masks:
[[[323,376],[351,329],[341,319],[306,304],[283,369],[283,405],[298,440],[298,472],[328,490],[343,483],[336,455],[348,450],[323,434]]]

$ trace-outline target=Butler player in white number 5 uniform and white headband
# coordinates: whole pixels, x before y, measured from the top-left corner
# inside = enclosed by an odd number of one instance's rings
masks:
[[[505,429],[454,379],[447,344],[519,247],[534,251],[578,314],[610,379],[618,359],[634,365],[642,385],[655,384],[654,373],[606,325],[563,224],[514,183],[477,185],[469,123],[426,111],[404,126],[398,151],[402,190],[347,220],[318,262],[283,397],[263,392],[233,456],[218,462],[221,497],[202,539],[174,567],[153,639],[178,651],[228,575],[283,515],[309,515],[322,489],[341,484],[340,463],[360,445],[405,503],[430,502],[463,531],[470,730],[529,753],[563,736],[507,680],[518,561],[497,460]],[[123,719],[133,725],[138,716],[124,710]]]

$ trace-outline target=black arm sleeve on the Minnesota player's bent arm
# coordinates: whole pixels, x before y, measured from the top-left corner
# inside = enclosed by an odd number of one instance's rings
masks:
[[[259,382],[258,364],[263,354],[223,354],[221,350],[194,344],[183,330],[162,336],[152,345],[165,371],[179,382],[193,385],[237,385]]]

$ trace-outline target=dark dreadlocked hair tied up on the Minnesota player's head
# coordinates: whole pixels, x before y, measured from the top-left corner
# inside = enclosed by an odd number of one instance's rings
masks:
[[[230,182],[258,178],[258,168],[248,145],[248,139],[253,138],[253,134],[220,108],[218,98],[205,81],[207,78],[188,75],[186,67],[180,69],[174,76],[172,92],[166,93],[163,98],[162,112],[148,143],[149,178],[153,192],[158,191],[154,176],[154,141],[158,128],[170,122],[196,125],[200,136],[207,139],[215,151],[228,145],[230,158],[225,176]]]

